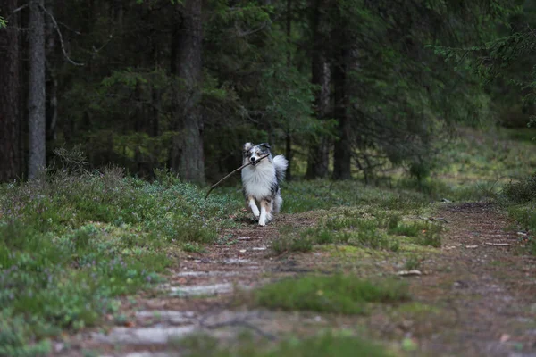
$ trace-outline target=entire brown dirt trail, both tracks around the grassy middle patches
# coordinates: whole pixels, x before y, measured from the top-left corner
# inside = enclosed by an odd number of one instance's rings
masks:
[[[80,356],[98,350],[106,356],[167,356],[168,336],[205,331],[232,338],[247,328],[268,339],[287,333],[309,334],[319,328],[366,326],[373,337],[399,348],[411,338],[418,346],[408,355],[536,356],[536,260],[520,254],[520,236],[507,230],[497,207],[485,203],[443,206],[437,217],[448,221],[443,245],[423,253],[423,275],[407,277],[413,309],[379,307],[369,316],[331,316],[310,312],[248,310],[233,291],[247,290],[274,278],[308,272],[352,270],[393,275],[393,255],[340,259],[325,250],[273,256],[270,242],[278,227],[314,224],[307,213],[281,215],[275,224],[225,232],[206,253],[180,261],[159,293],[125,300],[123,326],[86,331],[54,345],[54,355]],[[146,354],[143,354],[146,353]]]

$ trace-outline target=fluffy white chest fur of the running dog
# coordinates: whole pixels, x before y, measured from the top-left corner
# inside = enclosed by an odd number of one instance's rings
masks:
[[[275,168],[272,162],[261,162],[242,169],[242,184],[246,195],[253,195],[256,200],[272,194],[272,185],[276,182]]]

